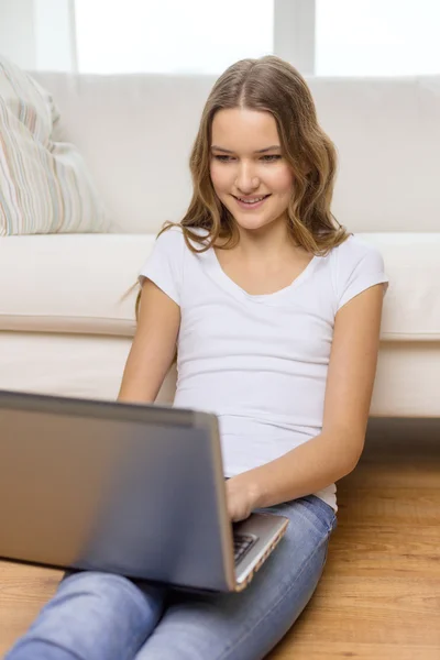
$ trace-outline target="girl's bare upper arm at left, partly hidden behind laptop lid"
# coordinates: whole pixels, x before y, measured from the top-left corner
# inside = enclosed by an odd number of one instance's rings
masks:
[[[176,353],[180,308],[150,279],[142,287],[138,328],[118,400],[155,400]]]

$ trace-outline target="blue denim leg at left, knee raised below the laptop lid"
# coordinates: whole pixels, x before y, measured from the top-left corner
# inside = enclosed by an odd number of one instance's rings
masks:
[[[131,660],[157,624],[165,594],[120,575],[73,573],[6,660]]]

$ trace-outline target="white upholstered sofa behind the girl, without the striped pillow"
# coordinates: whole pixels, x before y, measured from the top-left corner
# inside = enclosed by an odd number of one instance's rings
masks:
[[[190,196],[188,155],[211,77],[35,77],[52,90],[112,219],[110,234],[0,239],[0,388],[114,398],[135,283]],[[333,212],[382,251],[372,415],[440,415],[440,77],[309,78],[340,156]],[[161,393],[170,400],[174,374]]]

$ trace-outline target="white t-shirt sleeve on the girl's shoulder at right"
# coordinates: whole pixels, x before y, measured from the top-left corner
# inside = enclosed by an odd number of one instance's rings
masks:
[[[385,295],[388,277],[381,252],[375,246],[351,237],[345,244],[340,245],[338,253],[337,309],[341,309],[349,300],[376,284],[385,284]]]

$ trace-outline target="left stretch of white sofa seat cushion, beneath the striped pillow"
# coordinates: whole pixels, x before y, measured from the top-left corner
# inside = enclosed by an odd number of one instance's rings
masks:
[[[0,330],[132,337],[154,234],[0,239]]]

